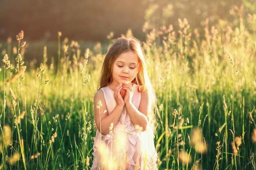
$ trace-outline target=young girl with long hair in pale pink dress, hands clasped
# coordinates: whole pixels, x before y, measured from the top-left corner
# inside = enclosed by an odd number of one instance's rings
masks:
[[[91,170],[157,170],[155,92],[136,38],[117,38],[106,54],[94,95],[97,126]]]

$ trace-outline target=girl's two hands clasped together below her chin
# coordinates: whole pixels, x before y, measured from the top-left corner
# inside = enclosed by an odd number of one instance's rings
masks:
[[[133,88],[131,84],[119,83],[114,91],[114,98],[117,105],[124,106],[126,103],[132,102]]]

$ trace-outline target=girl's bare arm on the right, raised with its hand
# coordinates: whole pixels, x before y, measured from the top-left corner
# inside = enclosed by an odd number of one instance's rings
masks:
[[[148,126],[148,116],[151,112],[151,101],[147,91],[141,92],[141,102],[139,109],[132,104],[131,99],[133,95],[132,86],[123,87],[126,89],[126,97],[124,99],[125,107],[130,119],[134,125],[139,125],[145,131]]]

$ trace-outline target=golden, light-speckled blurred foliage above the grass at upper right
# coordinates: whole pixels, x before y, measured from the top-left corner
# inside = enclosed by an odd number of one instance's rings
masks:
[[[186,18],[192,30],[200,33],[208,26],[228,23],[238,26],[239,17],[255,13],[255,0],[145,0],[148,2],[145,21],[151,27],[172,24],[179,26],[178,18]],[[246,23],[245,23],[246,24]],[[175,28],[175,29],[176,29]]]

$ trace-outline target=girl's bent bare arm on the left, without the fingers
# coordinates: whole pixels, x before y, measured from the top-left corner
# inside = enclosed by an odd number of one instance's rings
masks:
[[[101,101],[101,106],[99,106],[99,101]],[[119,120],[119,117],[121,116],[123,110],[124,104],[117,102],[117,106],[113,109],[113,111],[110,114],[108,114],[103,91],[99,90],[95,93],[94,119],[97,129],[102,135],[108,135],[111,123],[113,123],[113,126],[117,124],[117,121]]]

